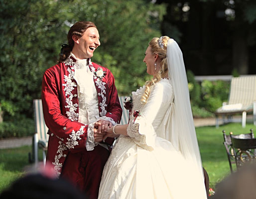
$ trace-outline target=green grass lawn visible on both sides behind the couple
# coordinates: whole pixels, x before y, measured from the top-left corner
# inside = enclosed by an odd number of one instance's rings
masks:
[[[241,123],[230,123],[220,128],[215,128],[215,126],[196,128],[203,166],[210,178],[210,188],[214,189],[216,183],[230,174],[222,130],[239,134],[249,133],[250,128],[254,128],[254,125],[247,124],[244,129]],[[24,174],[24,167],[31,166],[28,163],[29,152],[31,152],[31,146],[0,149],[0,192]],[[42,160],[41,151],[39,151],[39,159]]]

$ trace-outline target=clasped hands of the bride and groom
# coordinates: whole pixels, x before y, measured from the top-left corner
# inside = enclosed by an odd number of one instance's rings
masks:
[[[110,121],[100,119],[94,124],[94,141],[101,142],[107,137],[115,137],[113,133],[113,124]]]

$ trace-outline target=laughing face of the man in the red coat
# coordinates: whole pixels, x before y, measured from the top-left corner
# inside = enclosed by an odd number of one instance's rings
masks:
[[[77,41],[79,59],[91,58],[95,49],[101,45],[100,35],[95,27],[88,28]]]

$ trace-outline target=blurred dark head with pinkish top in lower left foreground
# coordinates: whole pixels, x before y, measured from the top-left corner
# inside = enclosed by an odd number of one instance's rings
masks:
[[[50,169],[45,169],[17,179],[0,194],[0,199],[86,199],[86,197],[68,181],[54,178]]]

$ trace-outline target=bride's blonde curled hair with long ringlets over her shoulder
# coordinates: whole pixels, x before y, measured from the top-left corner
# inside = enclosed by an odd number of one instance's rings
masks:
[[[146,103],[149,94],[150,94],[150,87],[154,85],[155,83],[159,82],[161,78],[166,77],[168,75],[168,66],[167,66],[167,59],[166,59],[166,49],[167,49],[167,42],[170,38],[168,36],[162,37],[162,43],[163,48],[159,46],[159,38],[154,37],[151,39],[151,41],[148,43],[148,45],[152,49],[152,54],[155,53],[158,55],[158,59],[161,59],[160,62],[160,69],[158,72],[156,72],[153,76],[153,79],[150,81],[146,81],[145,83],[145,91],[144,94],[141,97],[141,103]]]

